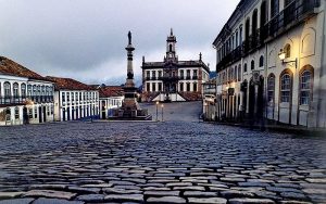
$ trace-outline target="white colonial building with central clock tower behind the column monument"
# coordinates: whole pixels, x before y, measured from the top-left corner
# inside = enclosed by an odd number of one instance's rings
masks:
[[[209,80],[209,66],[200,54],[197,61],[179,61],[176,37],[171,30],[166,39],[163,62],[146,62],[142,58],[142,100],[188,101],[200,100],[202,84]]]

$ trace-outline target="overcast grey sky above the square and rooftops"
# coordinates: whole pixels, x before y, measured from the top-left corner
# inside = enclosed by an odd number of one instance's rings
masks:
[[[212,42],[239,0],[0,0],[0,55],[43,76],[88,84],[124,84],[127,33],[134,71],[141,56],[162,61],[173,28],[179,60],[214,71]]]

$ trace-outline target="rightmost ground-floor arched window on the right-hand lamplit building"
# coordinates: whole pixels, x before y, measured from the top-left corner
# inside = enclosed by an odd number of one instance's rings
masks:
[[[309,105],[312,92],[312,72],[303,71],[300,75],[300,105]]]

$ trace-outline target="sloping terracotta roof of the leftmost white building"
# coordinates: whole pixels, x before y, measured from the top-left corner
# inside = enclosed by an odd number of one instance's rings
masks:
[[[10,59],[7,59],[4,56],[0,56],[0,74],[26,77],[29,79],[37,79],[37,80],[47,80],[47,78],[40,76],[39,74],[29,71],[23,65]]]

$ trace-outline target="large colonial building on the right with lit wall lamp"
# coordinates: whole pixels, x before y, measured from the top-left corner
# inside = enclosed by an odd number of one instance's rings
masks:
[[[220,119],[326,126],[325,1],[241,0],[213,44]]]

